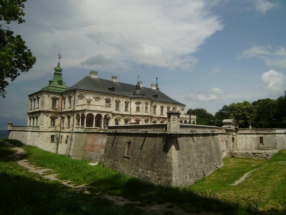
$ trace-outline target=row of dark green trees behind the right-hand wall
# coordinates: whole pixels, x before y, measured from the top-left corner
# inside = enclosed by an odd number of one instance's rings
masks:
[[[235,119],[240,128],[286,128],[286,96],[224,105],[215,116],[204,108],[189,109],[187,113],[196,115],[198,125],[222,127],[222,120]]]

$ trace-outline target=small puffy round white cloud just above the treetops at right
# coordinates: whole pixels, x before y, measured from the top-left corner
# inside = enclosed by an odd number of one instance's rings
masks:
[[[264,72],[261,76],[262,85],[261,88],[267,91],[268,94],[283,94],[284,92],[284,79],[285,76],[281,72],[275,70],[269,70]]]

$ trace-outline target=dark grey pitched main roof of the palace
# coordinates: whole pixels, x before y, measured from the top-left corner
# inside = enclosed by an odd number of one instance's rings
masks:
[[[177,102],[159,90],[153,90],[147,87],[141,87],[141,94],[136,94],[135,84],[127,84],[122,82],[114,82],[111,80],[101,79],[101,78],[92,78],[90,76],[84,77],[82,80],[74,84],[73,86],[66,89],[70,90],[87,90],[99,93],[107,93],[112,95],[126,96],[132,98],[148,98],[153,101],[173,103],[178,105],[184,105],[180,102]],[[143,95],[142,95],[143,94]]]

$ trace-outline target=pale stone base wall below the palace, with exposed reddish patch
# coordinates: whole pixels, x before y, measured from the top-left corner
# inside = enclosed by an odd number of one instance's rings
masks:
[[[55,142],[51,142],[51,135],[55,136]],[[53,153],[65,154],[75,159],[94,162],[101,161],[103,158],[106,137],[106,132],[62,131],[60,133],[14,126],[10,127],[9,134],[9,139],[18,140],[27,145]]]

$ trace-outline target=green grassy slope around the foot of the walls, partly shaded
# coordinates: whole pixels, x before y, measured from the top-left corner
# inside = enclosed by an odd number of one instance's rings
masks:
[[[49,153],[29,145],[22,147],[28,152],[28,159],[35,165],[54,169],[60,174],[60,179],[93,185],[93,193],[101,190],[111,195],[139,200],[143,204],[153,201],[172,202],[187,212],[269,215],[286,213],[286,162],[279,162],[286,161],[286,150],[275,154],[269,161],[225,158],[221,169],[190,187],[182,188],[153,185],[102,168],[100,165],[89,166],[88,161],[73,160],[65,155]],[[0,155],[5,153],[12,152],[6,147],[0,148]],[[120,208],[94,194],[76,193],[59,182],[48,181],[27,172],[15,162],[3,157],[0,159],[0,174],[4,176],[0,177],[1,184],[8,184],[8,187],[12,188],[5,188],[0,194],[0,205],[4,204],[5,207],[11,208],[9,205],[13,202],[13,206],[27,207],[28,211],[38,205],[32,212],[48,210],[53,212],[51,214],[140,214],[132,205]],[[236,186],[231,185],[245,173],[257,168],[259,169],[246,181]],[[7,197],[9,193],[13,193],[15,197],[10,199]]]

